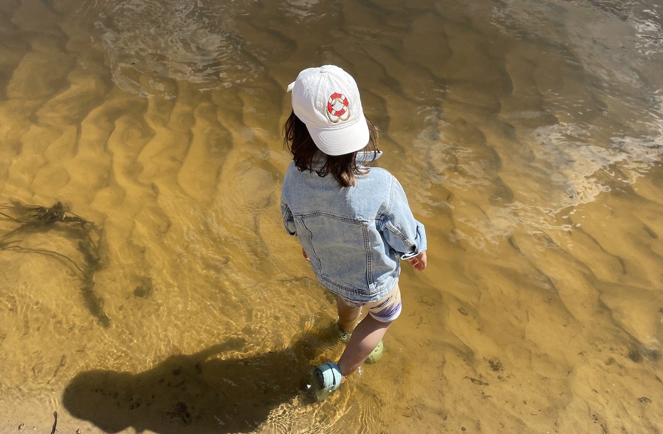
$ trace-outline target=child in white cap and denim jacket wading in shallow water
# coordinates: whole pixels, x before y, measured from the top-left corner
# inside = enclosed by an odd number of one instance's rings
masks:
[[[322,400],[365,360],[382,355],[382,338],[401,310],[399,259],[424,270],[426,233],[398,180],[365,166],[382,153],[355,80],[326,65],[300,72],[288,91],[292,113],[284,136],[293,162],[283,181],[283,222],[318,281],[336,294],[337,329],[349,338],[337,363],[313,372]],[[357,325],[362,307],[369,315]]]

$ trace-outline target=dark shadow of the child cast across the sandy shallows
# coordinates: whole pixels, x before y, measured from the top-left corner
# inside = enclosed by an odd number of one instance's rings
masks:
[[[332,327],[304,334],[294,345],[249,358],[213,358],[241,351],[230,339],[200,353],[171,356],[145,372],[91,370],[76,375],[62,402],[105,432],[245,433],[269,412],[303,394],[302,380],[324,348],[335,345]],[[208,360],[209,359],[209,360]]]

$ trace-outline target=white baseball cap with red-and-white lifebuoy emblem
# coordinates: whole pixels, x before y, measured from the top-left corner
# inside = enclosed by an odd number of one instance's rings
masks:
[[[292,91],[294,114],[325,154],[349,154],[368,144],[369,126],[357,83],[338,66],[307,68],[288,85],[288,91]]]

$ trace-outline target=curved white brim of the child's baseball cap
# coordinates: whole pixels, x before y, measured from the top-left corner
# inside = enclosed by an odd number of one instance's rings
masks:
[[[306,128],[318,149],[327,155],[344,155],[361,150],[369,143],[370,138],[365,117],[338,129],[317,129],[308,125]]]

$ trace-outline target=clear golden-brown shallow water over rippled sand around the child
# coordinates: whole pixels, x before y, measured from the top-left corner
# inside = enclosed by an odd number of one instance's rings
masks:
[[[105,242],[90,286],[80,233],[3,238],[0,432],[659,432],[661,17],[1,1],[0,203],[62,201]],[[280,126],[325,63],[357,79],[429,267],[404,270],[385,358],[308,405],[342,347],[281,227]]]

